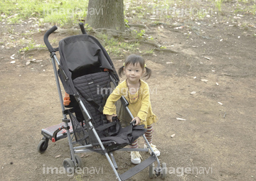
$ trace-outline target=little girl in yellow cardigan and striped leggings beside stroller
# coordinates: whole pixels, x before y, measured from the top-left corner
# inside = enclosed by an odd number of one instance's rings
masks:
[[[107,120],[111,122],[112,117],[117,116],[115,102],[117,102],[120,97],[124,96],[125,99],[127,99],[127,102],[129,102],[128,108],[134,116],[132,121],[136,120],[135,125],[143,124],[145,126],[147,129],[145,133],[146,139],[149,141],[156,156],[159,156],[159,150],[152,144],[152,124],[156,122],[157,117],[151,108],[149,99],[149,85],[141,79],[144,73],[144,76],[148,79],[151,76],[151,70],[146,67],[143,57],[139,55],[129,55],[125,60],[124,65],[119,68],[118,73],[120,77],[122,77],[122,74],[124,74],[127,79],[121,82],[114,89],[112,94],[110,94],[110,97],[108,97],[105,104],[103,114],[106,114]],[[122,111],[120,112],[122,114]],[[131,121],[129,116],[126,116],[126,118],[123,116],[124,114],[119,115],[119,119],[128,119],[129,122]],[[131,148],[138,148],[137,141],[132,143]],[[147,148],[146,143],[144,144],[144,148]],[[151,153],[150,150],[149,153]],[[138,151],[131,152],[132,163],[141,163],[141,158],[142,156]]]

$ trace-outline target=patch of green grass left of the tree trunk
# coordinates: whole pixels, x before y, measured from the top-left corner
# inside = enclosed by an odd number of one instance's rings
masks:
[[[66,26],[84,19],[87,6],[88,0],[1,0],[0,20],[6,18],[9,23],[21,23],[28,18],[42,18],[44,23]]]

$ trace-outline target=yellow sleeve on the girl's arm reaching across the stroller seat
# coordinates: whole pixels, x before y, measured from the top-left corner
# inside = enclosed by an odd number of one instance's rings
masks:
[[[115,102],[117,102],[120,97],[122,97],[122,94],[125,92],[124,87],[122,84],[119,84],[114,91],[110,94],[110,96],[107,98],[107,102],[103,109],[103,114],[107,115],[113,115],[117,114]]]

